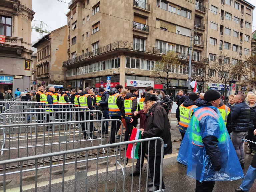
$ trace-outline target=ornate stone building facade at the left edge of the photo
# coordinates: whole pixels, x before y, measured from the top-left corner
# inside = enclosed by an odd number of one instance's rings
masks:
[[[0,0],[0,91],[30,86],[32,0]]]

